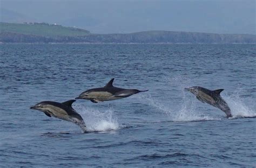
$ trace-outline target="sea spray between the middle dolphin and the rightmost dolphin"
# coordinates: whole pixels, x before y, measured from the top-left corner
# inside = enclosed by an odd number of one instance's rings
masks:
[[[176,76],[174,78],[166,77],[164,80],[167,83],[165,87],[170,90],[164,93],[165,97],[170,95],[172,99],[176,99],[175,101],[161,100],[161,97],[153,97],[150,93],[147,95],[136,95],[136,99],[158,109],[158,113],[167,115],[170,121],[208,121],[221,120],[223,118],[207,113],[208,110],[205,107],[207,105],[197,102],[197,99],[191,97],[184,90],[184,88],[191,86],[190,79],[184,76]]]

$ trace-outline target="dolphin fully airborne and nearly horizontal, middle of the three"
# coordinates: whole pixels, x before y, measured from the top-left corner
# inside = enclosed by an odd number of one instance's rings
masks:
[[[148,91],[114,87],[113,81],[114,78],[111,79],[104,87],[86,90],[85,92],[81,93],[78,97],[76,97],[76,99],[85,99],[90,100],[93,103],[98,103],[103,101],[122,99],[124,97],[129,97],[139,92]]]

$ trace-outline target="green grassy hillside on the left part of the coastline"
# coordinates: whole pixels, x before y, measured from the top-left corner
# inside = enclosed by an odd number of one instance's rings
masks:
[[[43,37],[56,36],[85,36],[90,32],[84,29],[73,27],[64,27],[61,25],[50,25],[47,23],[31,23],[31,24],[17,24],[17,23],[3,23],[0,22],[0,32],[29,34]]]

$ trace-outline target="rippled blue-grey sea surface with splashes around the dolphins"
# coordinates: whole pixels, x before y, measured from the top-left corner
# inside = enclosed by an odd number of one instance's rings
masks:
[[[1,167],[255,167],[255,44],[1,44]],[[78,100],[88,134],[30,106],[84,90],[149,89]],[[233,117],[184,90],[225,89]]]

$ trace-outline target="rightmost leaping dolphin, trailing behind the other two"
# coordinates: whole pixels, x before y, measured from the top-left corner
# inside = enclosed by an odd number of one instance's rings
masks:
[[[193,86],[185,88],[185,90],[188,90],[196,95],[197,99],[201,102],[211,104],[212,106],[224,111],[227,117],[232,117],[230,107],[228,107],[227,103],[220,96],[220,92],[222,92],[224,89],[208,90],[200,86]]]

